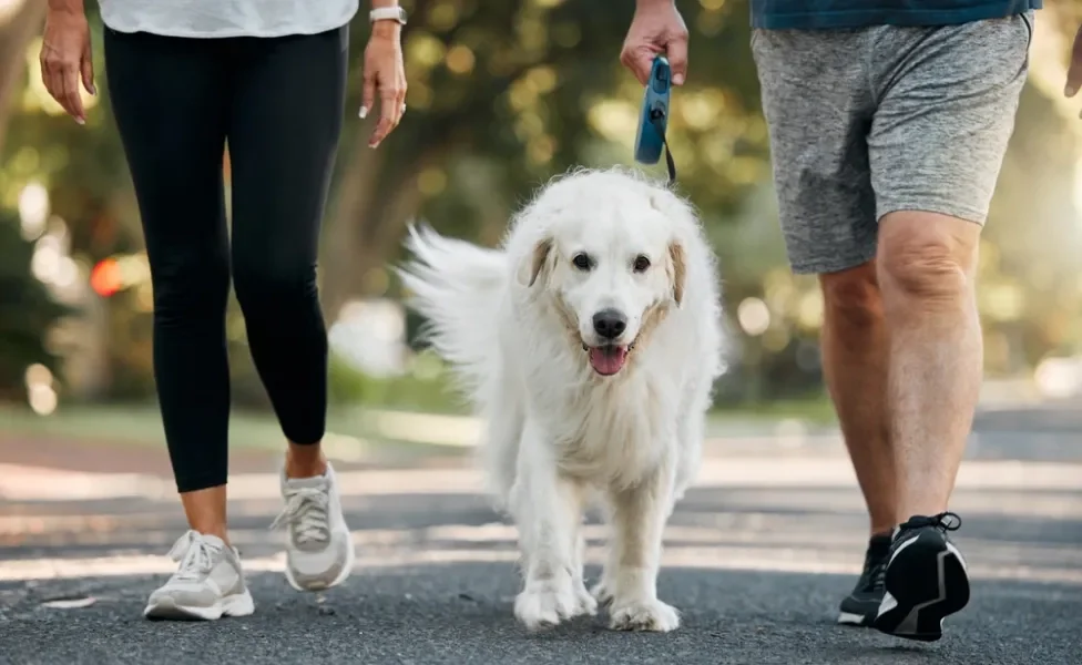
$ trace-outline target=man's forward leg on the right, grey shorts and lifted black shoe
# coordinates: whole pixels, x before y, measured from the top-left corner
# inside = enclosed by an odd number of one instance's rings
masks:
[[[879,283],[890,328],[888,408],[900,522],[875,626],[942,636],[969,602],[947,512],[980,389],[973,277],[981,225],[1025,81],[1032,13],[877,29],[868,135]]]

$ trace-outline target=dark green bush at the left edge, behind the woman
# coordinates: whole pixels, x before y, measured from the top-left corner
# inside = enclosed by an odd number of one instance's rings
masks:
[[[27,367],[40,364],[61,375],[48,347],[50,329],[72,310],[57,303],[30,270],[34,246],[18,218],[0,208],[0,399],[21,400]]]

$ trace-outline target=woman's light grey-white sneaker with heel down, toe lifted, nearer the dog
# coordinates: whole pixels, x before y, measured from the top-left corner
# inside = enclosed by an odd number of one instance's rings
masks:
[[[354,567],[354,541],[341,514],[335,471],[315,478],[282,473],[285,508],[270,524],[286,526],[286,580],[297,591],[340,584]]]

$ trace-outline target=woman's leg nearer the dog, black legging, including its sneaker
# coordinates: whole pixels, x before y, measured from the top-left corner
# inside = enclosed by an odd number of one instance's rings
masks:
[[[348,575],[353,544],[319,443],[327,332],[316,289],[319,228],[341,130],[348,27],[242,39],[228,144],[233,280],[252,358],[288,440],[277,521],[297,589]]]

